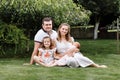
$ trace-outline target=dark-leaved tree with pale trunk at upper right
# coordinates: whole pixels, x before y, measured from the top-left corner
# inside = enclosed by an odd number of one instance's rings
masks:
[[[98,27],[101,19],[109,14],[116,15],[120,13],[119,0],[73,0],[77,5],[83,5],[86,9],[92,12],[94,17],[95,29],[94,39],[98,36]]]

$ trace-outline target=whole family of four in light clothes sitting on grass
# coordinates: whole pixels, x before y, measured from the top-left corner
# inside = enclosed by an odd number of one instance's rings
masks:
[[[44,18],[42,29],[34,38],[34,51],[30,64],[34,62],[46,67],[68,66],[68,67],[96,67],[107,68],[106,65],[98,65],[85,57],[79,50],[80,44],[74,42],[70,36],[70,25],[62,23],[58,31],[52,30],[52,19]]]

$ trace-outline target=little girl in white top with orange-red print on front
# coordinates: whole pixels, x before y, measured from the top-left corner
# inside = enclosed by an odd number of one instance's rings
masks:
[[[56,49],[50,37],[44,37],[41,48],[38,49],[38,56],[34,56],[33,60],[40,65],[46,66],[54,62],[54,53]]]

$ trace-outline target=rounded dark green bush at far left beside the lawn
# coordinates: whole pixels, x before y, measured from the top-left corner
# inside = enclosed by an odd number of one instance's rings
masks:
[[[27,37],[15,25],[0,23],[0,57],[11,57],[25,52]]]

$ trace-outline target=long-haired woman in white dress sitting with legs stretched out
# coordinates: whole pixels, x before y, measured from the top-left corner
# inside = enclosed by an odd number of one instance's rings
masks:
[[[57,58],[59,60],[52,66],[64,66],[69,67],[96,67],[107,68],[105,65],[98,65],[89,58],[83,56],[78,49],[73,45],[74,39],[70,36],[70,25],[62,23],[58,28],[58,38],[56,40]]]

